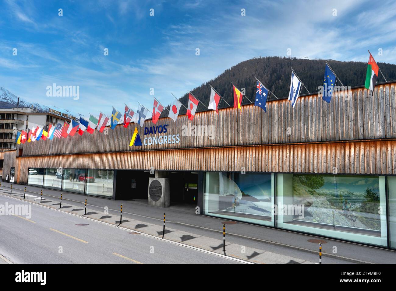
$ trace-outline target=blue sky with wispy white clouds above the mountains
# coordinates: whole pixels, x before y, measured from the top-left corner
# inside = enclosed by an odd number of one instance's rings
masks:
[[[137,101],[150,109],[150,88],[168,105],[171,93],[288,48],[295,57],[364,62],[370,49],[377,62],[396,63],[392,1],[0,2],[0,86],[83,115]],[[80,99],[47,97],[53,83],[80,86]]]

